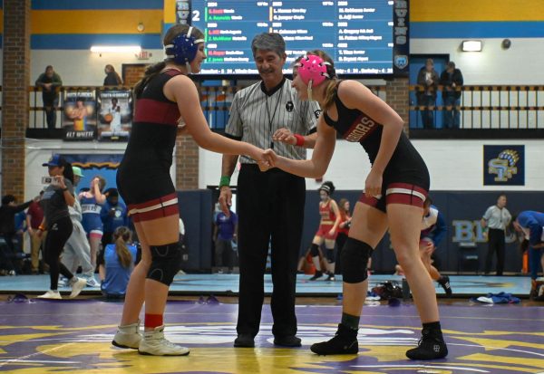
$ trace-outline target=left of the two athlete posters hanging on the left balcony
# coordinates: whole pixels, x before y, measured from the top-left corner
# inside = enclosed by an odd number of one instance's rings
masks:
[[[64,91],[64,140],[92,140],[96,136],[94,90]]]

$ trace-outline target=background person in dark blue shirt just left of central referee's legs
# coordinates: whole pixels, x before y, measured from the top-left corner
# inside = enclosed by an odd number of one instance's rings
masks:
[[[223,266],[223,256],[228,257],[228,270],[232,271],[234,266],[232,241],[237,240],[238,234],[238,216],[232,210],[228,209],[228,215],[219,212],[215,220],[215,229],[213,238],[215,242],[215,264],[217,267]]]

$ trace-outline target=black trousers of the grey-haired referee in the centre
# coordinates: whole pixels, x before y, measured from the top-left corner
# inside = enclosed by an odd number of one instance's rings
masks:
[[[302,238],[306,182],[279,169],[242,165],[238,176],[238,334],[257,335],[271,243],[272,333],[296,334],[296,265]]]

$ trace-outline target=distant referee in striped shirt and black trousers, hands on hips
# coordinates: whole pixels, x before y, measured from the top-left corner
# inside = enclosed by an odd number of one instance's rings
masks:
[[[504,233],[511,219],[512,216],[506,208],[506,195],[504,194],[500,194],[497,204],[490,206],[481,217],[481,226],[488,229],[488,253],[485,257],[484,270],[486,275],[491,271],[491,262],[495,252],[497,252],[497,275],[502,275],[506,246]]]

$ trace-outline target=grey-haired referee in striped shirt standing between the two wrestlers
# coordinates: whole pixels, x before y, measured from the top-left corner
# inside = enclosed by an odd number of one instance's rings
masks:
[[[278,155],[305,159],[306,137],[316,126],[316,101],[299,101],[284,77],[286,43],[280,34],[258,34],[251,43],[262,82],[238,91],[232,101],[225,135]],[[296,145],[273,143],[277,129],[295,134]],[[298,146],[298,147],[297,147]],[[306,147],[308,145],[306,144]],[[238,156],[223,155],[219,203],[228,212],[232,193],[230,176]],[[240,266],[238,338],[235,347],[254,347],[264,301],[264,273],[271,244],[272,283],[270,307],[274,318],[274,344],[299,347],[296,337],[296,265],[304,221],[306,182],[277,168],[259,171],[251,158],[240,158],[238,176],[238,256]]]

